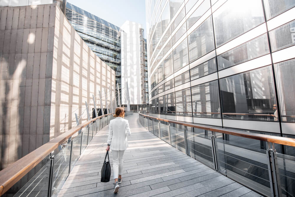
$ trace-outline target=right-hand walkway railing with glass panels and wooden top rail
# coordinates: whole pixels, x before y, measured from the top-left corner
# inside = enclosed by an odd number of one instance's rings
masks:
[[[157,118],[144,111],[139,117],[155,136],[248,188],[264,196],[295,196],[295,157],[276,151],[281,145],[294,147],[295,139]],[[267,142],[268,147],[229,141],[224,134]]]

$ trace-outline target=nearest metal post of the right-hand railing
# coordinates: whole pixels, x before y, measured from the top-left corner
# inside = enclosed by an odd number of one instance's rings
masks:
[[[268,142],[268,149],[266,152],[267,161],[268,161],[268,174],[269,174],[269,182],[271,185],[271,196],[273,197],[281,197],[281,181],[279,178],[278,172],[278,161],[276,156],[276,149],[274,147],[274,143]]]

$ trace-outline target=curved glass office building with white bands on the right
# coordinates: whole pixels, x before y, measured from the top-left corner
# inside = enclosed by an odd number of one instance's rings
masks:
[[[287,0],[146,0],[150,115],[295,138],[294,6]],[[187,127],[183,132],[171,125],[170,134],[171,145],[211,164],[211,132]],[[268,147],[227,134],[217,137],[253,149]],[[260,168],[266,163],[229,149],[220,172],[269,191],[263,180],[268,172]],[[295,153],[289,146],[276,150]]]

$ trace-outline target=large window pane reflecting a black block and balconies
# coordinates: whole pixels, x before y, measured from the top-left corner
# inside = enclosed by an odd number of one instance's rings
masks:
[[[278,121],[271,66],[219,79],[227,119]]]

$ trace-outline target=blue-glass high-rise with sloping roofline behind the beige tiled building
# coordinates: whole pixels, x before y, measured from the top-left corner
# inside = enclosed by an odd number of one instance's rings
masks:
[[[116,71],[116,84],[120,89],[120,28],[70,3],[66,4],[65,16],[96,56]]]

